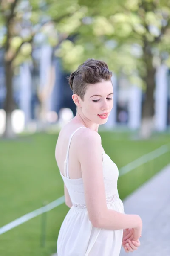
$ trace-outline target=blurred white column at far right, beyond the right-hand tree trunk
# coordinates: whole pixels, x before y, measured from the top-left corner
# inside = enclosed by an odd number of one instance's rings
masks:
[[[167,128],[168,68],[161,65],[156,71],[155,127],[157,131]]]

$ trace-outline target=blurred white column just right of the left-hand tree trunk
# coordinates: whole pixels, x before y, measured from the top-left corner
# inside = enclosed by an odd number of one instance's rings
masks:
[[[20,109],[25,114],[25,125],[31,119],[31,71],[28,62],[20,67]]]

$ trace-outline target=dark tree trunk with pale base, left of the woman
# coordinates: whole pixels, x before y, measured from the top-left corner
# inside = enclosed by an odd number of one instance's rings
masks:
[[[13,99],[13,88],[12,88],[12,78],[13,78],[13,67],[10,61],[5,61],[5,77],[6,77],[6,101],[5,101],[5,111],[6,111],[6,127],[3,137],[12,139],[15,137],[15,133],[12,127],[11,114],[14,110],[14,99]]]

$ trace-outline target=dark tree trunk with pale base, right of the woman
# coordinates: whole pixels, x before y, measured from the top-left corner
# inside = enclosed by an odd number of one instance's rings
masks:
[[[155,73],[154,67],[148,67],[147,76],[144,81],[147,85],[145,99],[142,106],[142,124],[140,129],[140,137],[142,139],[148,139],[154,128],[154,90],[155,90]]]

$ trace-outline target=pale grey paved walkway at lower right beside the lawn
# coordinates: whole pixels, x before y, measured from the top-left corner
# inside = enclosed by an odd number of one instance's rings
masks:
[[[124,201],[125,213],[143,221],[141,246],[120,256],[170,256],[170,165]]]

